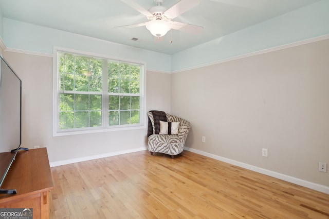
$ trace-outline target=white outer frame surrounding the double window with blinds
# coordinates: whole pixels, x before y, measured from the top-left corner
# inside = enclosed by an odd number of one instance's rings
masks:
[[[125,62],[130,64],[138,64],[142,66],[141,75],[140,75],[140,124],[130,124],[130,125],[119,125],[119,126],[107,126],[107,127],[93,127],[93,128],[81,128],[79,130],[59,130],[58,127],[58,118],[59,118],[59,83],[58,83],[58,52],[66,52],[77,55],[102,58],[102,59],[111,59],[113,61]],[[87,134],[87,133],[97,133],[97,132],[108,132],[108,131],[124,131],[124,130],[133,130],[133,129],[145,129],[146,126],[146,63],[140,61],[132,61],[129,59],[123,58],[114,58],[107,55],[84,52],[74,49],[67,49],[61,47],[53,47],[53,113],[52,113],[52,135],[53,136],[63,136],[63,135],[74,135],[74,134]],[[102,108],[102,113],[104,109]]]

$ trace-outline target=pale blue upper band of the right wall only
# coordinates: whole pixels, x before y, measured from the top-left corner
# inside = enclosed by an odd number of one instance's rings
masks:
[[[329,0],[269,19],[172,55],[172,71],[329,34]]]

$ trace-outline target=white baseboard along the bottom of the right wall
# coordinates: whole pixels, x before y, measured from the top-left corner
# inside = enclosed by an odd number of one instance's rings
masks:
[[[314,189],[316,191],[324,192],[326,194],[329,194],[329,187],[328,186],[308,182],[308,181],[305,181],[305,180],[301,180],[300,178],[295,178],[293,176],[284,175],[284,174],[274,172],[274,171],[271,171],[271,170],[267,170],[267,169],[263,169],[263,168],[260,168],[260,167],[255,167],[255,166],[252,166],[252,165],[249,165],[249,164],[245,164],[245,163],[242,163],[242,162],[239,162],[239,161],[231,160],[231,159],[226,158],[226,157],[214,155],[214,154],[207,153],[207,152],[200,151],[200,150],[196,150],[196,149],[193,149],[193,148],[184,147],[184,149],[187,150],[187,151],[191,151],[193,153],[197,153],[197,154],[200,154],[200,155],[204,155],[204,156],[213,158],[213,159],[218,160],[218,161],[222,161],[222,162],[232,164],[232,165],[235,165],[235,166],[238,166],[238,167],[242,167],[242,168],[245,168],[245,169],[248,169],[248,170],[252,170],[252,171],[255,171],[255,172],[258,172],[258,173],[262,173],[262,174],[265,174],[265,175],[268,175],[268,176],[272,176],[272,177],[278,178],[280,180],[284,180],[284,181],[289,182],[289,183],[294,183],[294,184],[304,186],[304,187],[309,188],[309,189]]]

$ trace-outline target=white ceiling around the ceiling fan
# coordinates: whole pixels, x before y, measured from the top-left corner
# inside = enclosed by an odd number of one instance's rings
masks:
[[[189,1],[189,0],[181,0]],[[145,28],[116,29],[148,19],[120,0],[0,0],[3,17],[124,45],[174,54],[212,39],[264,22],[320,0],[200,0],[173,21],[203,26],[200,34],[169,31],[162,42]],[[136,0],[145,9],[153,0]],[[179,0],[166,0],[172,7]],[[132,38],[138,41],[132,41]],[[170,41],[172,40],[172,43]]]

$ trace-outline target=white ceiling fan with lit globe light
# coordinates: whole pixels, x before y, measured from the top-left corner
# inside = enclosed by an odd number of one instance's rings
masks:
[[[180,0],[177,4],[169,9],[162,6],[162,3],[165,0],[153,1],[155,2],[156,6],[146,10],[138,5],[134,0],[121,0],[121,2],[129,5],[141,14],[145,15],[149,21],[141,24],[119,26],[116,28],[133,28],[146,26],[152,35],[158,38],[166,35],[166,33],[171,29],[195,34],[202,32],[203,27],[201,26],[172,21],[172,19],[175,17],[197,6],[199,4],[199,0]]]

